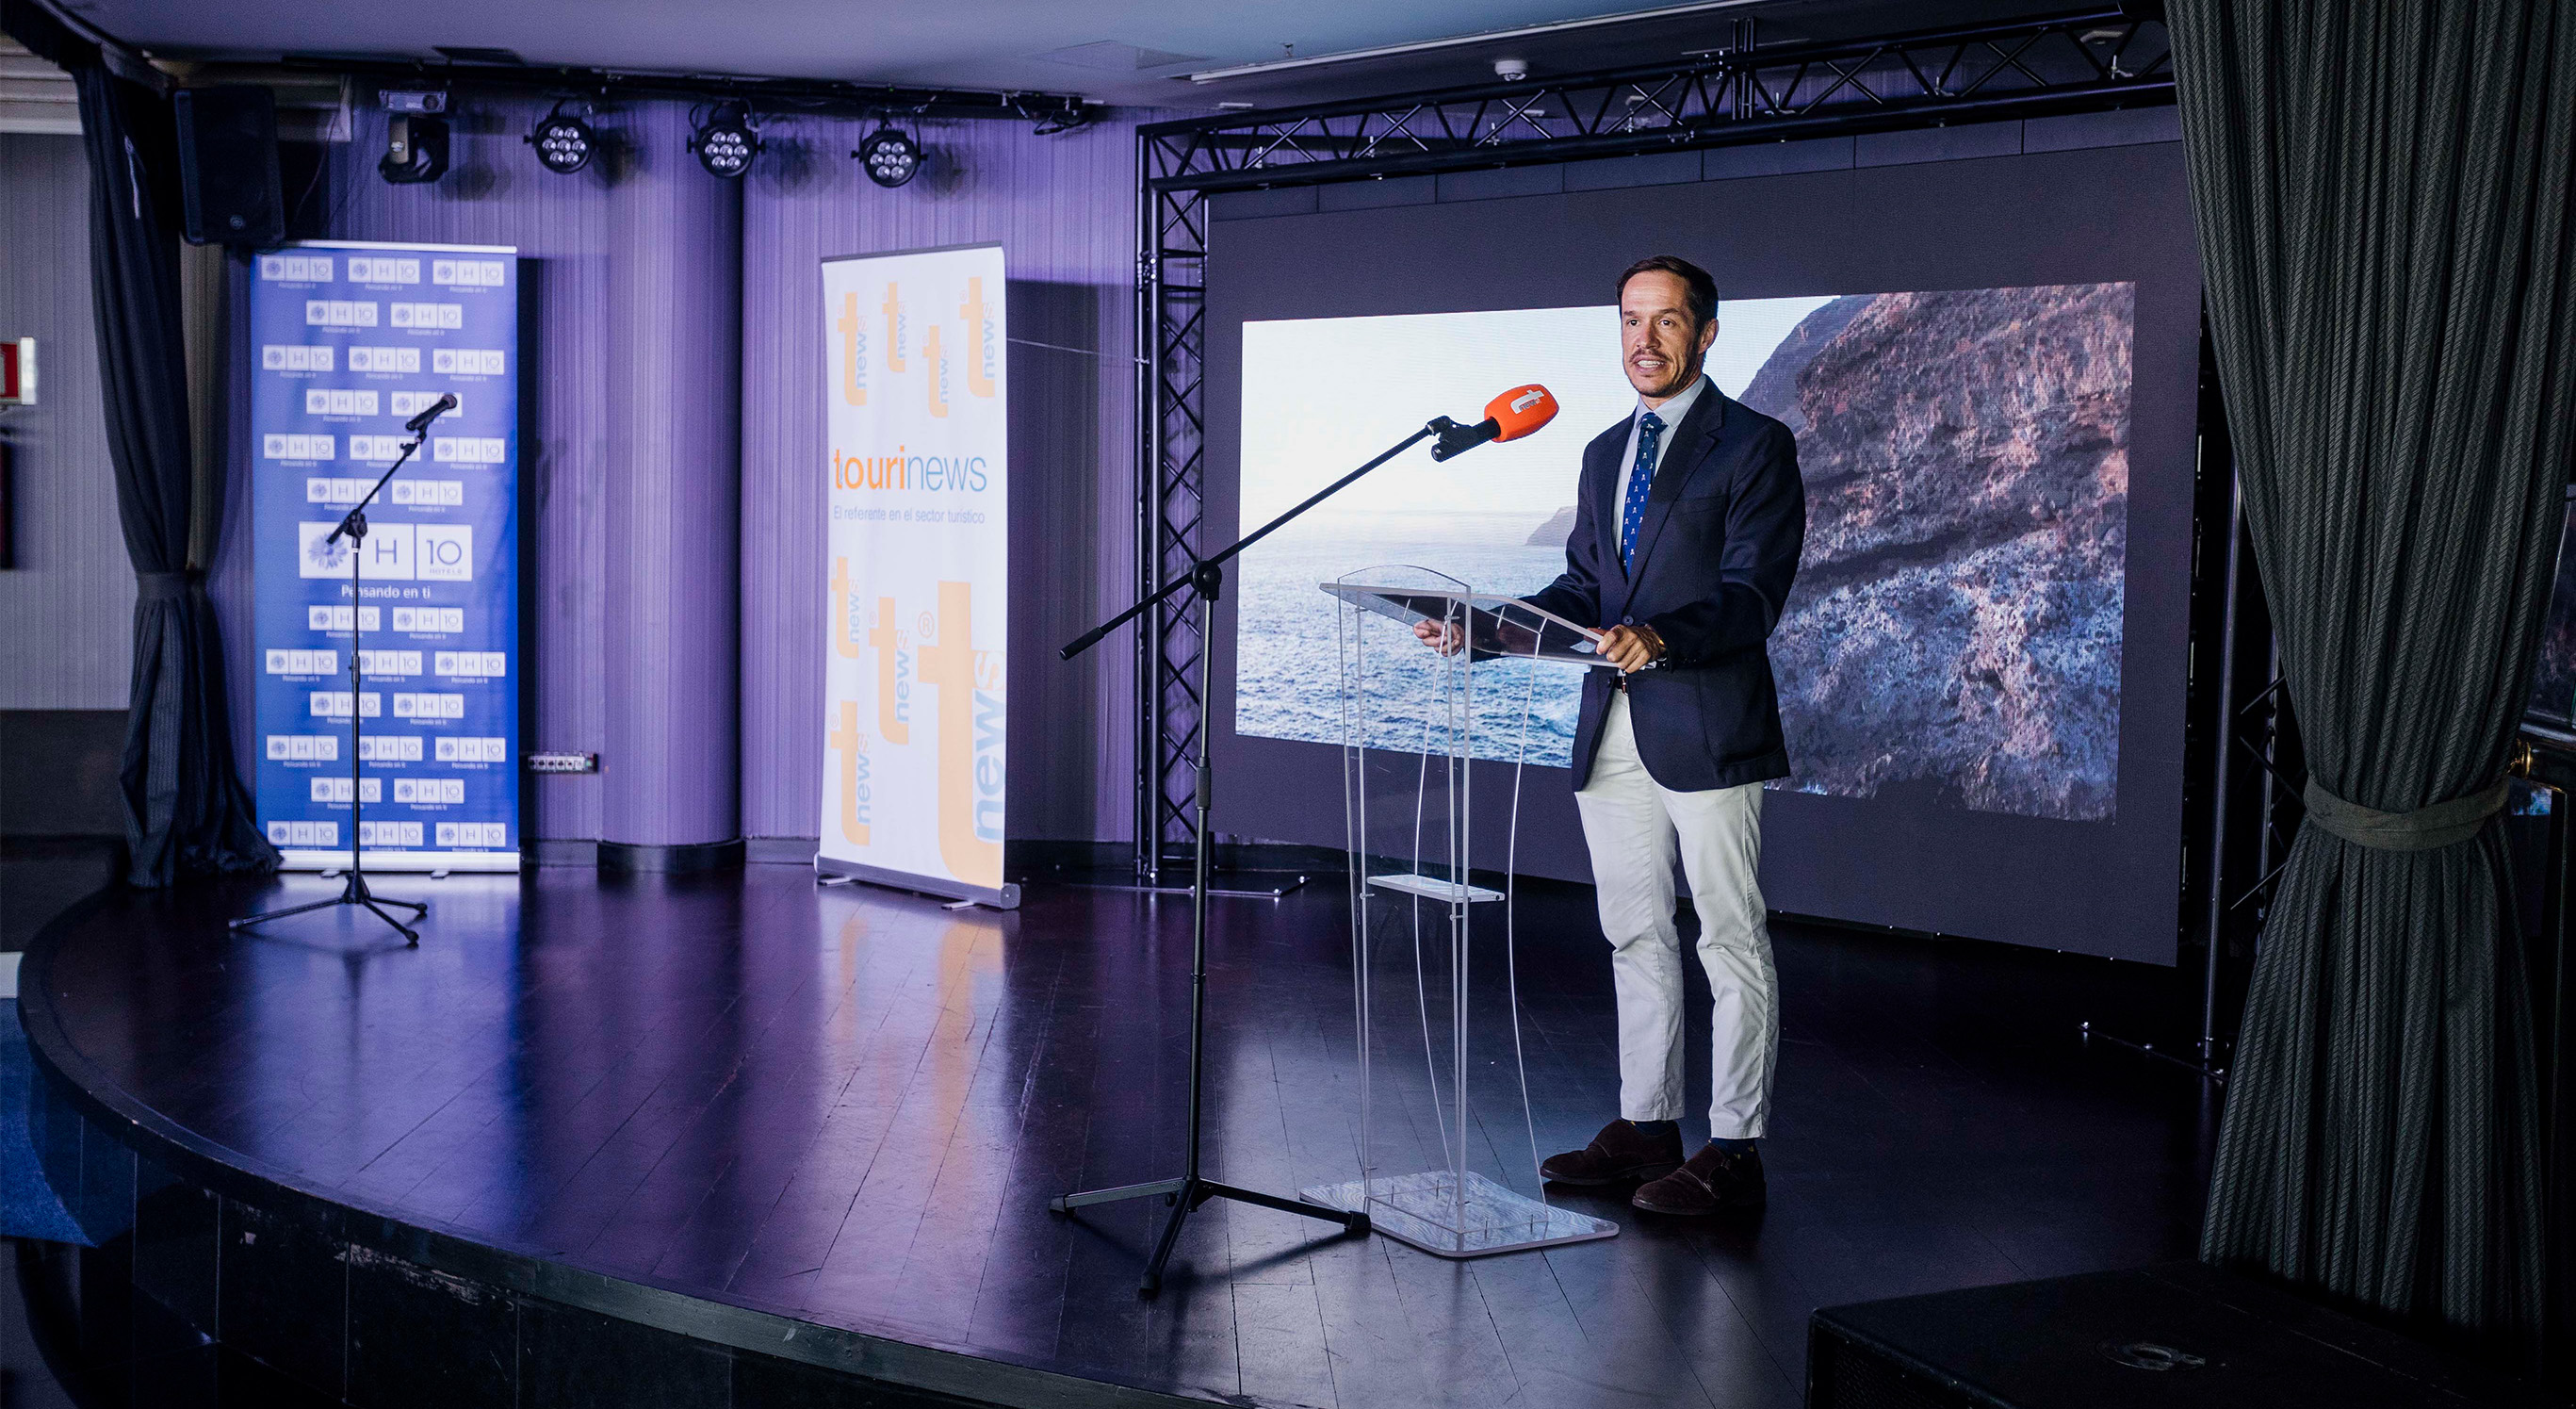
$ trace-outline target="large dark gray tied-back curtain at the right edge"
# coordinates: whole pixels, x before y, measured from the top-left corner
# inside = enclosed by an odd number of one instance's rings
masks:
[[[2576,0],[2172,0],[2246,518],[2311,768],[2202,1257],[2537,1347],[2494,811],[2576,469]]]

